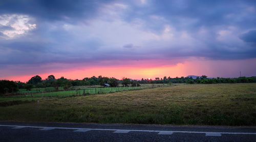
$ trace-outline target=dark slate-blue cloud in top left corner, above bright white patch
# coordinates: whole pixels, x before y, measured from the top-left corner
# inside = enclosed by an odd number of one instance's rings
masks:
[[[83,0],[4,0],[0,2],[1,14],[28,14],[42,20],[76,22],[82,17],[94,17],[100,4],[110,1]]]

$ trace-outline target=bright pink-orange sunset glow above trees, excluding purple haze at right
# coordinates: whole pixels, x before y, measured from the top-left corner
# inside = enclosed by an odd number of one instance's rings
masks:
[[[155,78],[155,77],[163,77],[163,76],[172,76],[171,74],[179,74],[179,68],[184,66],[182,64],[178,64],[176,66],[162,66],[162,67],[148,67],[148,68],[140,68],[140,67],[93,67],[89,69],[77,69],[73,71],[67,72],[49,72],[44,74],[34,74],[34,75],[24,75],[24,76],[12,76],[7,77],[9,80],[20,80],[23,82],[28,81],[31,77],[35,75],[41,76],[42,79],[48,77],[48,75],[54,75],[55,78],[60,78],[64,76],[68,79],[83,79],[84,77],[92,77],[99,75],[106,77],[115,77],[117,79],[122,79],[123,77],[131,78],[131,79],[141,79],[141,78]]]

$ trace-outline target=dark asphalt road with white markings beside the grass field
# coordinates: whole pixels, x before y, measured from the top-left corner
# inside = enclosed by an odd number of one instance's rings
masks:
[[[0,122],[0,141],[256,141],[256,127]]]

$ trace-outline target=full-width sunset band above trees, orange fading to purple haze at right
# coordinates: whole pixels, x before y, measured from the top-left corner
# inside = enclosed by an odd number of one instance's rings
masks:
[[[115,77],[117,79],[122,79],[123,77],[131,79],[141,79],[141,78],[153,78],[155,77],[163,78],[166,77],[186,77],[187,75],[206,75],[208,77],[239,77],[239,71],[241,70],[243,75],[250,74],[250,72],[245,72],[242,69],[247,68],[249,71],[256,70],[256,67],[248,65],[249,63],[256,62],[256,59],[248,60],[237,60],[237,61],[202,61],[193,60],[184,63],[179,63],[176,65],[166,65],[166,66],[155,66],[154,63],[150,67],[139,67],[139,66],[103,66],[103,67],[91,67],[91,68],[79,68],[74,70],[66,70],[63,72],[48,72],[42,74],[31,74],[22,76],[9,76],[1,79],[8,80],[20,80],[22,82],[28,81],[31,77],[35,75],[41,76],[42,79],[48,77],[48,75],[54,75],[55,78],[60,78],[61,76],[68,79],[83,79],[84,77],[92,77],[99,75],[106,77]],[[221,74],[221,75],[220,75]]]

